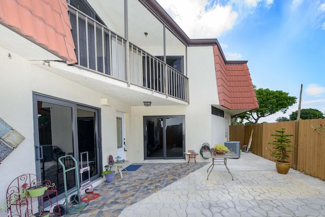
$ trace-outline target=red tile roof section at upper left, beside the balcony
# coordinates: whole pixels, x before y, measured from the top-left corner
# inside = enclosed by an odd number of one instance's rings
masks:
[[[54,51],[68,64],[77,63],[66,0],[2,0],[0,21]]]

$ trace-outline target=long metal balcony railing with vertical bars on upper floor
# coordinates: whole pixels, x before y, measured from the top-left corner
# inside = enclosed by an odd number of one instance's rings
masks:
[[[78,65],[188,102],[182,73],[70,5],[69,15]]]

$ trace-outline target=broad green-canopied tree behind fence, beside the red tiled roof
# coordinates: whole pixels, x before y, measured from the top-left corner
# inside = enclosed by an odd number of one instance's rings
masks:
[[[246,112],[248,121],[257,123],[259,118],[267,117],[271,114],[275,114],[278,111],[285,113],[289,106],[296,103],[297,97],[290,97],[287,92],[282,90],[270,90],[268,88],[255,89],[256,98],[259,108]]]

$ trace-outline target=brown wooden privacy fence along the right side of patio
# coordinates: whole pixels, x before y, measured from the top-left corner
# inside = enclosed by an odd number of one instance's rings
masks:
[[[312,130],[312,125],[325,125],[325,119],[234,125],[230,126],[230,141],[240,141],[241,147],[248,145],[249,137],[254,130],[250,146],[252,153],[274,161],[268,150],[273,146],[268,142],[274,141],[271,134],[276,133],[275,130],[285,128],[285,134],[294,134],[289,138],[296,146],[293,148],[295,154],[290,158],[291,167],[325,180],[325,132],[317,133]]]

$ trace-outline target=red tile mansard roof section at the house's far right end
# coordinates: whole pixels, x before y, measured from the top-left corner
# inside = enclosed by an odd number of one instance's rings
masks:
[[[213,46],[219,105],[228,109],[257,109],[258,103],[247,61],[226,61]]]

